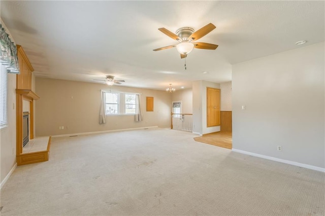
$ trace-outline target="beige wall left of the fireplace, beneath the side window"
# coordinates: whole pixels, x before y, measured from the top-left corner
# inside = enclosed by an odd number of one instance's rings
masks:
[[[1,20],[1,23],[6,27]],[[6,32],[10,35],[8,29]],[[12,41],[14,41],[11,38]],[[16,164],[16,75],[8,74],[8,127],[0,130],[1,186]]]

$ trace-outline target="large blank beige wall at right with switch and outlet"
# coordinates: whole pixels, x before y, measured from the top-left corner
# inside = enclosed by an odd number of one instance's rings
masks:
[[[233,66],[234,149],[325,170],[324,45]]]

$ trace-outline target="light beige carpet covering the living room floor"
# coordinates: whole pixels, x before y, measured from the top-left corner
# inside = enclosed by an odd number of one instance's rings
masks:
[[[17,167],[7,215],[324,215],[325,174],[148,129],[52,138]]]

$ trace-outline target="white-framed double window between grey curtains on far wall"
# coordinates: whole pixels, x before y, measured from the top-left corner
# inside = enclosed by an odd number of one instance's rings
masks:
[[[105,92],[106,115],[136,114],[136,94]]]

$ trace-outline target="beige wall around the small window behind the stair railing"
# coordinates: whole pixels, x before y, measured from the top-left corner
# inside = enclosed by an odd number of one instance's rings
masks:
[[[192,89],[182,89],[177,90],[172,93],[172,101],[181,101],[182,102],[182,113],[192,114]],[[172,104],[171,104],[172,106]]]

